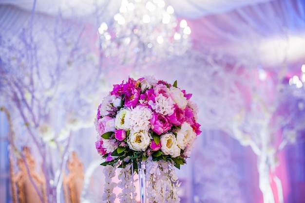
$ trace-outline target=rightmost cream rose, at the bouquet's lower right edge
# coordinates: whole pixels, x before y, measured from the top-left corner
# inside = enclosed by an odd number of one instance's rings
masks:
[[[196,133],[193,128],[187,122],[181,125],[181,129],[177,131],[178,147],[184,149],[196,138]]]

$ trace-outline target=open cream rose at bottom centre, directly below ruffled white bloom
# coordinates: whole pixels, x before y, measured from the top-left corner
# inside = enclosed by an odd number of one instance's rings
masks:
[[[145,151],[149,146],[151,138],[147,130],[133,131],[131,130],[127,138],[129,148],[134,151]]]

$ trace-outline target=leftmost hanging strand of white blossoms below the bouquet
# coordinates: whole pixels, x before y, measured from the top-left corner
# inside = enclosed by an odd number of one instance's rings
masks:
[[[116,195],[114,194],[114,187],[116,183],[112,182],[112,178],[115,176],[116,166],[107,165],[104,167],[104,175],[105,175],[105,185],[104,185],[104,194],[102,196],[102,200],[106,201],[106,203],[114,203]]]

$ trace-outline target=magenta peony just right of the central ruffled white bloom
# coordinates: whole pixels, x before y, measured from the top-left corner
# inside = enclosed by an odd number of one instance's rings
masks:
[[[152,131],[154,131],[158,135],[172,128],[172,124],[167,120],[167,118],[158,113],[153,113],[150,121]]]

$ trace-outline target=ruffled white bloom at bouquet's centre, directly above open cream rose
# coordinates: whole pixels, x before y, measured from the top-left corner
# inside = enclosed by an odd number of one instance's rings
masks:
[[[140,130],[149,130],[151,128],[150,120],[152,110],[144,106],[136,106],[130,113],[130,129],[137,132]]]

